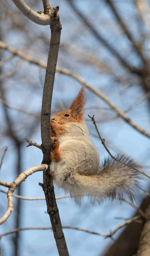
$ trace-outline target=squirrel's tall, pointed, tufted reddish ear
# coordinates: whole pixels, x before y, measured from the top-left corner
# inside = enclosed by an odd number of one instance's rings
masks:
[[[78,93],[78,96],[70,105],[70,109],[72,111],[72,116],[77,118],[79,116],[83,116],[83,108],[86,103],[85,99],[85,87],[83,86]]]

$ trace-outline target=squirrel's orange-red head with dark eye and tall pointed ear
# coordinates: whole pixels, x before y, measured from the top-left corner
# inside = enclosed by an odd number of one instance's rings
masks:
[[[84,87],[78,93],[78,96],[71,103],[70,108],[65,111],[61,111],[52,116],[51,120],[55,120],[58,124],[63,125],[69,122],[82,122],[83,120],[83,108],[86,103]]]

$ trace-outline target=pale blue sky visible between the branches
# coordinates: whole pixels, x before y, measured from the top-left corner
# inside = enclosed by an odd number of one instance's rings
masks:
[[[121,9],[122,16],[126,18],[126,22],[130,24],[134,17],[134,9],[130,2],[121,3],[118,5],[118,9]],[[29,3],[29,1],[28,1]],[[39,1],[38,1],[39,3]],[[92,3],[92,4],[91,4]],[[126,56],[130,63],[138,66],[140,61],[136,54],[132,52],[132,47],[127,38],[121,33],[115,24],[114,17],[110,12],[110,9],[104,4],[103,1],[76,1],[78,8],[81,8],[85,15],[91,17],[91,22],[94,24],[96,29],[101,32],[107,40],[110,40],[111,44],[118,50],[121,49],[121,54]],[[60,6],[60,15],[62,22],[62,34],[61,34],[61,44],[69,44],[80,48],[86,53],[90,53],[97,58],[101,58],[105,63],[110,65],[110,67],[115,70],[118,76],[124,76],[124,69],[120,66],[115,58],[92,36],[91,32],[81,24],[81,21],[76,15],[71,11],[66,1],[51,1],[51,6]],[[17,10],[17,7],[12,3],[12,9]],[[41,10],[42,3],[37,4],[34,8],[35,11]],[[103,11],[101,11],[103,9]],[[127,16],[128,15],[128,16]],[[32,55],[34,58],[46,61],[48,46],[43,44],[40,36],[44,35],[49,41],[49,27],[38,26],[32,23],[32,21],[27,20],[26,17],[20,14],[22,22],[25,24],[25,28],[28,31],[29,39],[26,37],[26,33],[12,28],[10,31],[9,20],[5,24],[8,27],[8,33],[3,37],[5,41],[10,46],[15,49],[22,49],[26,54]],[[95,20],[95,17],[97,19]],[[112,25],[112,26],[111,26]],[[134,32],[136,40],[140,40],[136,24],[133,22],[133,26],[130,29]],[[31,39],[37,35],[37,40],[32,42]],[[29,46],[28,46],[29,44]],[[46,45],[46,47],[45,47]],[[129,52],[127,52],[127,50]],[[3,58],[6,58],[10,53],[4,52]],[[146,55],[146,53],[145,53]],[[18,63],[19,58],[15,58],[14,62],[9,62],[3,67],[3,73],[7,73],[8,70],[12,70],[15,64]],[[135,86],[126,90],[124,94],[121,94],[120,84],[112,78],[112,76],[107,75],[103,71],[96,69],[94,66],[85,64],[83,60],[78,60],[74,55],[67,54],[60,50],[58,56],[58,66],[66,67],[72,72],[77,73],[79,76],[83,77],[89,84],[93,87],[101,90],[115,105],[121,110],[125,111],[130,105],[144,96],[144,92],[139,86],[137,86],[138,79],[135,78]],[[40,79],[40,75],[42,79]],[[24,62],[17,73],[11,78],[3,79],[3,84],[7,88],[7,102],[9,105],[16,108],[24,108],[26,111],[39,113],[41,109],[42,92],[43,92],[43,81],[45,76],[45,69],[36,67],[27,62]],[[124,76],[125,77],[125,76]],[[30,84],[32,84],[30,86]],[[124,87],[128,85],[128,81],[125,82]],[[81,88],[81,84],[70,77],[60,75],[56,73],[55,86],[52,99],[52,111],[59,108],[58,102],[62,101],[63,104],[68,107],[72,100],[77,95]],[[2,104],[2,102],[0,102]],[[87,107],[99,106],[108,107],[100,98],[95,96],[93,93],[87,90]],[[2,105],[1,105],[2,109]],[[95,114],[96,119],[108,118],[108,111],[95,111],[94,109],[85,111],[85,118],[88,118],[88,114]],[[16,125],[17,135],[19,137],[26,137],[26,127],[28,123],[30,124],[31,118],[22,113],[9,110],[9,115]],[[113,113],[111,113],[113,116]],[[110,117],[111,117],[110,116]],[[146,131],[150,131],[149,122],[149,111],[147,101],[142,102],[136,108],[133,108],[128,116],[134,120],[136,124],[144,128]],[[5,131],[6,125],[3,122],[4,113],[0,112],[1,131]],[[98,152],[100,154],[100,160],[107,156],[107,152],[104,150],[103,145],[98,140],[97,137],[92,136],[96,131],[92,125],[92,122],[87,122],[91,140],[95,144]],[[144,137],[137,131],[135,131],[131,126],[126,124],[121,119],[114,120],[112,122],[100,122],[98,123],[98,129],[101,136],[106,139],[108,145],[112,143],[113,154],[116,151],[120,151],[131,155],[139,163],[144,165],[150,165],[150,160],[148,159],[148,154],[150,152],[150,143],[148,138]],[[92,134],[91,134],[92,133]],[[40,138],[40,125],[37,125],[32,137],[28,138],[37,143],[41,143]],[[0,172],[0,179],[12,182],[16,178],[16,153],[14,150],[14,144],[9,137],[4,137],[1,135],[1,145],[0,154],[3,154],[3,148],[8,146],[8,151],[3,162],[3,166]],[[116,148],[116,149],[115,149]],[[42,153],[38,148],[29,147],[26,148],[26,142],[24,141],[22,145],[22,159],[21,167],[22,172],[26,169],[39,165],[42,161]],[[145,172],[149,172],[145,169]],[[37,172],[34,175],[27,178],[25,182],[22,183],[23,196],[27,197],[39,197],[43,196],[43,191],[38,182],[42,182],[42,173]],[[143,181],[144,186],[147,187],[147,182]],[[6,191],[6,189],[3,189]],[[17,191],[15,191],[17,193]],[[55,187],[55,194],[64,195],[62,189]],[[144,198],[145,195],[142,195]],[[141,197],[137,195],[136,204],[140,204]],[[14,228],[14,218],[15,218],[15,205],[18,199],[14,198],[14,212],[10,216],[9,220],[1,226],[0,233],[12,230]],[[0,205],[1,214],[6,210],[6,195],[0,194]],[[91,205],[87,198],[85,198],[81,207],[75,204],[70,198],[61,199],[58,201],[59,213],[61,216],[62,225],[72,225],[88,230],[96,231],[99,233],[109,233],[113,230],[122,220],[116,220],[115,217],[130,218],[135,209],[126,203],[120,204],[118,201],[106,201],[103,204]],[[51,226],[49,221],[49,215],[45,213],[46,203],[45,201],[22,201],[21,208],[21,227],[48,227]],[[114,238],[117,239],[119,231],[115,234]],[[31,230],[20,232],[20,256],[27,255],[52,255],[57,256],[58,251],[55,245],[55,240],[53,233],[50,230]],[[107,250],[109,244],[112,244],[111,239],[105,239],[101,236],[90,235],[76,230],[64,230],[66,237],[67,246],[69,249],[70,256],[86,255],[86,256],[102,256],[104,251]],[[5,236],[1,241],[2,255],[3,256],[13,256],[12,254],[12,236]]]

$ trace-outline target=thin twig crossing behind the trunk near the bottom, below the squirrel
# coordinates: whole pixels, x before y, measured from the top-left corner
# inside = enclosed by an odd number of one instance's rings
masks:
[[[97,235],[97,236],[104,236],[104,237],[112,237],[118,230],[120,230],[122,227],[127,226],[128,224],[136,221],[138,218],[141,218],[141,216],[136,216],[134,218],[131,218],[127,221],[125,221],[124,223],[122,223],[121,225],[119,225],[117,228],[115,228],[115,230],[113,230],[113,232],[111,232],[110,234],[103,234],[103,233],[97,233],[97,232],[93,232],[87,229],[83,229],[80,227],[73,227],[73,226],[63,226],[63,229],[73,229],[73,230],[79,230],[79,231],[83,231],[89,234],[93,234],[93,235]],[[23,231],[23,230],[52,230],[52,227],[22,227],[22,228],[16,228],[14,230],[11,230],[9,232],[3,233],[0,236],[8,236],[10,234],[16,233],[18,231]]]

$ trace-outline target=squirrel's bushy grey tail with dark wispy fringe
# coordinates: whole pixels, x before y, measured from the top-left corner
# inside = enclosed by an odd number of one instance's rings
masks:
[[[122,199],[125,196],[133,201],[135,192],[141,192],[141,175],[136,170],[140,166],[125,155],[118,154],[115,159],[105,158],[96,175],[78,176],[78,186],[92,202],[116,197]]]

